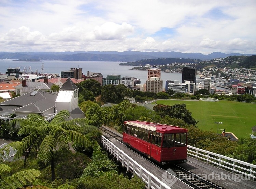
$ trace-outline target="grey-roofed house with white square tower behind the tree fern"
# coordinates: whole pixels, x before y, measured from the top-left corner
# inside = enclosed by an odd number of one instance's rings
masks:
[[[85,118],[78,107],[78,88],[70,79],[63,84],[58,95],[38,90],[0,103],[0,119],[26,118],[33,113],[49,121],[61,110],[68,110],[70,119]]]

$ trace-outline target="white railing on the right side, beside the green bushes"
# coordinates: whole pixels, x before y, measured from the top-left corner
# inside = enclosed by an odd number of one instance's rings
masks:
[[[196,159],[201,159],[206,161],[207,163],[212,163],[217,165],[219,168],[225,168],[227,170],[231,170],[232,173],[240,173],[250,178],[256,178],[256,165],[249,164],[244,161],[240,161],[237,159],[233,159],[227,156],[223,156],[220,154],[216,154],[213,152],[209,152],[206,150],[202,150],[200,148],[196,148],[188,145],[187,155],[193,156]]]

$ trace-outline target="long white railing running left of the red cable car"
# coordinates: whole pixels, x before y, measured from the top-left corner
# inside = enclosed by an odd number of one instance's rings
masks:
[[[147,184],[148,188],[152,189],[171,189],[168,185],[163,183],[160,179],[155,177],[152,173],[147,171],[141,165],[139,165],[135,160],[129,157],[126,153],[120,150],[111,141],[101,136],[101,143],[107,148],[107,150],[117,158],[118,161],[122,162],[122,166],[127,167],[127,171],[132,172],[133,176],[136,174]]]

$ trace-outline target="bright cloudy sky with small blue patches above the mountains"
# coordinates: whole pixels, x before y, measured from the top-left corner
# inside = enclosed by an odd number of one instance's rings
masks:
[[[1,0],[0,51],[256,53],[255,0]]]

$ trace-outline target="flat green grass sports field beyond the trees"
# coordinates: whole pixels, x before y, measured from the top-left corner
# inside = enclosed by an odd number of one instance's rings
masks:
[[[220,134],[222,129],[232,132],[238,138],[250,136],[251,127],[256,125],[256,104],[233,101],[184,101],[184,100],[157,100],[157,104],[174,105],[186,104],[192,117],[199,121],[196,126],[202,130],[211,129],[217,133],[219,124]]]

